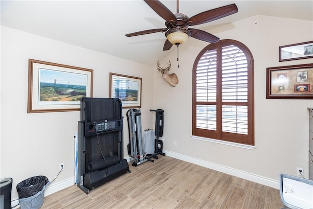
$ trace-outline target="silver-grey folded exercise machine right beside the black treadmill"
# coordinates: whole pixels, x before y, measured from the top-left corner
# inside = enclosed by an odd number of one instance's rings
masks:
[[[154,162],[146,157],[147,153],[143,150],[140,109],[130,109],[126,115],[130,140],[127,148],[128,154],[131,156],[131,161],[134,162],[132,165],[137,166],[147,161]]]

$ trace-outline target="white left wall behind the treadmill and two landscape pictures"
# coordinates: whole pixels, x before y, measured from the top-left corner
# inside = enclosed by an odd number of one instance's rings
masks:
[[[122,50],[122,49],[121,49]],[[28,59],[93,69],[93,97],[109,97],[109,72],[142,78],[142,128],[152,128],[153,68],[85,48],[1,27],[1,175],[16,185],[31,176],[44,175],[53,182],[74,177],[74,133],[80,112],[27,114]],[[124,157],[129,135],[124,116]],[[72,181],[74,184],[74,181]],[[52,186],[52,184],[51,184]]]

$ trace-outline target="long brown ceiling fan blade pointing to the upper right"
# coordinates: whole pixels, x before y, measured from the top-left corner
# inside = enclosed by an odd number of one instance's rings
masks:
[[[186,24],[197,25],[197,24],[209,23],[211,21],[218,20],[220,18],[224,18],[228,15],[234,14],[236,12],[238,12],[238,8],[236,4],[233,3],[227,6],[222,6],[216,9],[211,9],[205,12],[201,12],[200,14],[189,18],[186,21]]]

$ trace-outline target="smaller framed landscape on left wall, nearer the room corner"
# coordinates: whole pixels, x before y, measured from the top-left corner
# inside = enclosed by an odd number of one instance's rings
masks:
[[[110,72],[109,95],[119,98],[122,108],[140,108],[141,78]]]

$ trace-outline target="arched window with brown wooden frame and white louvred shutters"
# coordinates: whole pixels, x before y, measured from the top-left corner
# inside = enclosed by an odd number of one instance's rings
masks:
[[[254,145],[250,50],[235,40],[206,46],[193,66],[193,136]]]

